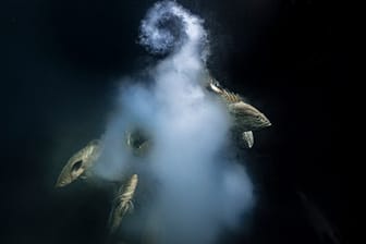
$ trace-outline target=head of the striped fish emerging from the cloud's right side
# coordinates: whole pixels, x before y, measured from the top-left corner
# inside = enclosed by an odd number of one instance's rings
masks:
[[[271,125],[264,113],[243,101],[230,105],[229,110],[234,115],[235,123],[243,131],[257,131]]]

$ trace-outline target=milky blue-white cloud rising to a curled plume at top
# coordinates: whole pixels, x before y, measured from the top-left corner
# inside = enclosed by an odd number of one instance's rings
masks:
[[[215,243],[222,228],[240,224],[254,196],[244,167],[228,157],[230,115],[202,85],[209,53],[203,20],[175,2],[158,2],[142,21],[139,42],[166,58],[147,83],[122,82],[95,172],[113,181],[137,173],[137,192],[152,188],[149,200],[137,194],[144,210],[123,221],[129,233],[147,232],[160,244]],[[124,143],[135,127],[151,138],[145,157]]]

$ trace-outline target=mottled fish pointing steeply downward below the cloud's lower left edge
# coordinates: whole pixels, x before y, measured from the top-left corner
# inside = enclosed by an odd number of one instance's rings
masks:
[[[113,233],[121,224],[122,218],[133,210],[132,199],[134,197],[138,183],[137,174],[133,174],[125,185],[122,185],[113,202],[113,208],[110,215],[110,231]]]

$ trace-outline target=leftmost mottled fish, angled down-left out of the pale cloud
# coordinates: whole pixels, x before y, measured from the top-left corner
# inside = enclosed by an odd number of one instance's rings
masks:
[[[94,162],[99,158],[101,145],[99,139],[94,139],[88,143],[83,149],[73,155],[68,163],[63,167],[56,187],[69,185],[88,170]]]

